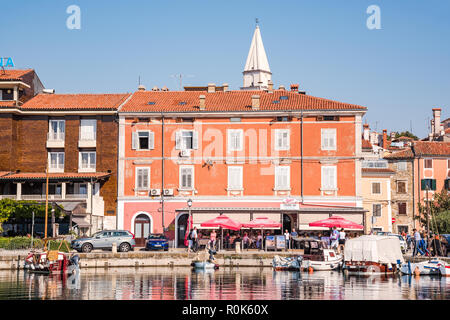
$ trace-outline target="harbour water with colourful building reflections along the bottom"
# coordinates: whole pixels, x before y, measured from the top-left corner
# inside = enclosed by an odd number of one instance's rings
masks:
[[[307,300],[449,299],[450,278],[345,276],[340,272],[274,272],[268,268],[82,269],[45,276],[0,271],[0,299]]]

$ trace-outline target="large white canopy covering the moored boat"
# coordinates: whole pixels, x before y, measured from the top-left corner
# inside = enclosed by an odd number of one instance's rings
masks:
[[[397,237],[367,235],[345,241],[345,261],[404,262]]]

